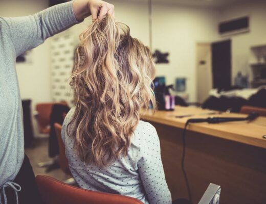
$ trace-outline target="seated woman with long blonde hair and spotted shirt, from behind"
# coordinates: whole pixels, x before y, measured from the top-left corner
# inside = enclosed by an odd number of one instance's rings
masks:
[[[157,132],[139,113],[156,106],[150,50],[108,15],[80,39],[71,81],[76,107],[62,127],[75,181],[143,203],[171,203]]]

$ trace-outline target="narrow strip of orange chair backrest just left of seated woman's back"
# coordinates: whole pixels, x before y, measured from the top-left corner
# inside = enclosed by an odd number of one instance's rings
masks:
[[[63,143],[63,140],[61,138],[62,125],[60,125],[59,123],[55,123],[54,126],[55,126],[55,134],[56,134],[57,141],[58,141],[58,146],[59,146],[59,164],[60,164],[60,168],[65,173],[69,173],[69,161],[65,157],[64,143]]]

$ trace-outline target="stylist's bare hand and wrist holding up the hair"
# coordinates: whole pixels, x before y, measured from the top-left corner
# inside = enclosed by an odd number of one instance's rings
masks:
[[[100,0],[76,0],[73,3],[73,11],[79,21],[90,15],[93,21],[102,19],[106,14],[115,17],[115,6]]]

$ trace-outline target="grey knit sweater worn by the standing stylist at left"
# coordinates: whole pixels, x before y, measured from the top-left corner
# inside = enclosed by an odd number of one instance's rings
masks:
[[[61,4],[26,17],[0,17],[0,195],[5,187],[13,186],[24,160],[16,57],[77,23],[72,4]],[[37,84],[33,86],[37,88]]]

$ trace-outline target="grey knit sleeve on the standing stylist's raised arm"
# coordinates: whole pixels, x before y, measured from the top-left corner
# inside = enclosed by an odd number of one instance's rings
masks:
[[[72,6],[73,1],[50,7],[30,16],[2,18],[6,21],[16,55],[23,54],[40,45],[47,38],[78,23]]]

